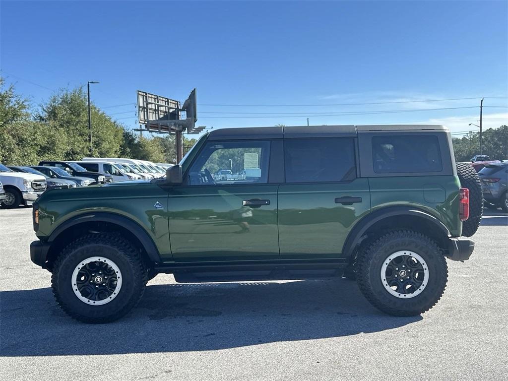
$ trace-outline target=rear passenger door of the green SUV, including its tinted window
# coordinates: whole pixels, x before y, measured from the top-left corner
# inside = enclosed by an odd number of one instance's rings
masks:
[[[351,227],[370,210],[357,178],[353,137],[284,139],[278,190],[281,258],[339,258]]]

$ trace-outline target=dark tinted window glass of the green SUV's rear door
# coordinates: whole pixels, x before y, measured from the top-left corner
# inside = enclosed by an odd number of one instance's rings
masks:
[[[356,177],[352,138],[284,140],[286,182],[348,181]]]

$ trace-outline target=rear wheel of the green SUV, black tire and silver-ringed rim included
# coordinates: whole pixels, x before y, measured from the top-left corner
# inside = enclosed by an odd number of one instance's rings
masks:
[[[448,267],[430,238],[396,231],[379,237],[361,253],[356,276],[362,294],[374,307],[391,315],[413,316],[441,298]]]

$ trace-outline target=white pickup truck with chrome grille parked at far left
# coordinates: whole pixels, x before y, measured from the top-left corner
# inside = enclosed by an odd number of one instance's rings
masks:
[[[5,191],[0,205],[7,209],[17,208],[20,204],[30,205],[46,190],[43,176],[14,172],[3,164],[0,164],[0,182]]]

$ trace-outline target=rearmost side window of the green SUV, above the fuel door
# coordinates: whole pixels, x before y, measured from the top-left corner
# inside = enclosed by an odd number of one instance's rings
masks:
[[[439,142],[432,135],[374,136],[372,160],[376,173],[442,170]]]

